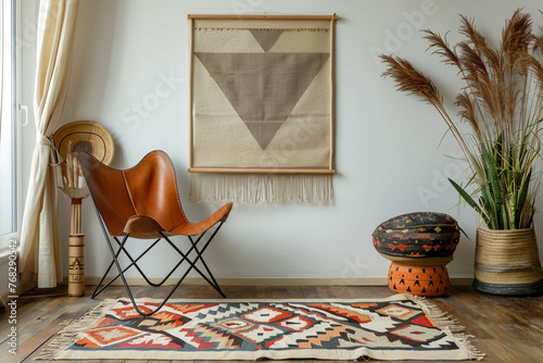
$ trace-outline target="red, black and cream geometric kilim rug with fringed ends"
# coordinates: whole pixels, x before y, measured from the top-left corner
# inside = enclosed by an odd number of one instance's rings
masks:
[[[151,311],[154,300],[138,301]],[[106,300],[42,350],[47,360],[479,360],[428,300],[175,300],[150,317]]]

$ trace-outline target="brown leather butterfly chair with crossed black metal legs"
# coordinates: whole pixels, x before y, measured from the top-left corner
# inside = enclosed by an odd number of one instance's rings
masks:
[[[94,203],[98,220],[100,221],[108,247],[113,258],[102,279],[92,292],[92,299],[115,279],[121,277],[136,311],[143,316],[149,316],[159,311],[164,303],[166,303],[192,268],[214,287],[218,293],[225,297],[207,267],[207,264],[202,259],[202,253],[207,246],[210,246],[210,242],[213,240],[223,223],[226,222],[232,203],[223,205],[202,222],[189,222],[185,216],[179,201],[174,165],[164,151],[152,151],[136,166],[127,170],[109,167],[92,155],[84,152],[79,154],[79,162],[90,197]],[[211,236],[204,242],[202,238],[209,230],[211,230]],[[187,236],[189,238],[190,248],[188,251],[181,251],[171,240],[169,237],[177,235]],[[138,258],[134,259],[125,247],[129,237],[136,239],[154,239],[154,242],[152,242]],[[117,245],[116,249],[112,243],[112,239]],[[167,276],[155,284],[147,277],[137,263],[161,240],[165,240],[169,243],[169,246],[179,253],[180,259]],[[198,245],[200,242],[202,242],[203,246],[199,247]],[[195,252],[195,258],[190,260],[189,255],[193,251]],[[121,252],[124,252],[130,260],[130,263],[124,268],[121,267],[118,261]],[[177,284],[172,287],[169,293],[162,303],[152,312],[140,311],[134,301],[130,287],[125,278],[125,272],[131,266],[135,266],[149,285],[157,287],[163,285],[185,261],[189,264],[187,271]],[[206,274],[195,265],[198,261],[201,262]],[[118,275],[102,286],[113,265],[116,266]]]

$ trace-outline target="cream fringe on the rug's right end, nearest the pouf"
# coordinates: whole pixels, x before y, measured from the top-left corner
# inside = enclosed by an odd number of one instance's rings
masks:
[[[432,322],[443,330],[447,330],[450,336],[452,336],[458,346],[464,348],[468,352],[468,359],[480,361],[484,358],[484,353],[480,352],[473,343],[470,341],[471,338],[475,338],[472,335],[465,334],[463,331],[466,330],[466,327],[463,325],[458,325],[458,321],[453,318],[453,316],[439,306],[437,306],[433,302],[430,302],[425,297],[419,296],[409,296],[413,301],[417,302],[430,316]]]

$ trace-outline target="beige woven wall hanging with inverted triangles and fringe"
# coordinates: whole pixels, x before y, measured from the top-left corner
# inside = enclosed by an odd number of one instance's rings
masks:
[[[189,15],[191,200],[332,200],[334,20]]]

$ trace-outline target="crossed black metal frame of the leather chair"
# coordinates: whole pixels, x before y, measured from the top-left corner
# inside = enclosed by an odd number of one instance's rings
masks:
[[[195,240],[193,239],[194,236],[187,236],[188,239],[190,240],[190,243],[191,243],[191,247],[190,247],[190,249],[188,250],[187,253],[184,253],[163,231],[160,231],[161,237],[157,238],[154,242],[152,242],[151,246],[148,247],[143,252],[141,252],[141,254],[137,259],[134,259],[131,256],[131,254],[128,253],[128,251],[125,248],[125,245],[126,245],[126,242],[128,241],[128,238],[129,238],[129,234],[124,235],[122,241],[119,241],[117,237],[110,236],[110,234],[108,233],[108,229],[105,228],[105,223],[104,223],[102,216],[100,215],[100,212],[98,211],[98,208],[96,206],[96,203],[93,203],[93,205],[94,205],[94,211],[97,212],[98,220],[100,222],[100,226],[101,226],[102,231],[104,234],[105,241],[108,243],[108,247],[110,249],[110,252],[111,252],[111,255],[112,255],[113,260],[110,263],[110,266],[106,268],[105,273],[103,274],[102,278],[100,279],[100,283],[94,288],[94,291],[92,292],[91,299],[94,299],[98,295],[100,295],[100,292],[102,292],[106,287],[109,287],[118,277],[121,277],[121,279],[123,280],[123,285],[125,286],[125,290],[128,293],[128,298],[130,299],[130,301],[131,301],[131,303],[134,305],[134,309],[140,315],[147,317],[147,316],[150,316],[150,315],[154,314],[155,312],[157,312],[159,310],[161,310],[162,306],[164,306],[164,304],[168,301],[168,299],[172,297],[172,295],[175,292],[175,290],[179,287],[179,285],[182,283],[182,280],[187,277],[187,275],[192,270],[194,270],[195,272],[198,272],[200,274],[200,276],[202,276],[207,281],[207,284],[210,284],[210,286],[212,286],[218,293],[220,293],[220,296],[223,296],[223,298],[226,298],[226,295],[223,292],[223,290],[218,286],[215,277],[213,276],[213,274],[211,273],[210,268],[207,267],[207,264],[205,263],[205,261],[202,258],[203,252],[207,249],[207,246],[210,246],[211,241],[213,240],[213,238],[215,237],[215,235],[217,234],[217,231],[223,226],[223,223],[224,223],[223,221],[220,221],[220,222],[217,223],[217,225],[215,226],[215,230],[213,230],[213,234],[210,236],[210,238],[207,238],[207,240],[205,241],[205,243],[203,245],[203,248],[201,250],[199,250],[197,246],[202,240],[202,238],[204,237],[204,235],[206,234],[206,231],[209,229],[205,230],[204,233],[200,234]],[[113,243],[111,241],[111,238],[113,238],[113,240],[115,240],[115,242],[118,245],[118,248],[116,249],[116,251],[115,251],[115,248],[114,248],[114,246],[113,246]],[[164,277],[164,279],[162,279],[160,283],[156,284],[156,283],[152,283],[148,278],[148,276],[143,273],[143,271],[141,271],[140,266],[138,266],[137,262],[144,254],[147,254],[147,252],[149,252],[161,240],[166,240],[169,243],[169,246],[172,246],[174,248],[174,250],[176,250],[179,253],[179,255],[181,256],[181,259],[174,266],[174,268],[172,268],[172,271],[166,275],[166,277]],[[195,256],[195,259],[193,261],[191,261],[189,259],[189,255],[190,255],[190,253],[192,251],[195,251],[195,253],[197,253],[197,256]],[[122,268],[121,263],[118,261],[121,252],[124,252],[125,255],[128,258],[128,260],[130,260],[130,263],[125,268]],[[172,289],[167,293],[166,298],[152,312],[150,312],[150,313],[142,312],[138,308],[138,305],[136,303],[136,300],[134,299],[134,295],[132,295],[132,292],[130,290],[130,287],[129,287],[128,283],[126,281],[125,272],[128,271],[130,267],[135,266],[138,270],[138,272],[141,274],[141,276],[146,279],[146,281],[150,286],[152,286],[152,287],[160,287],[160,286],[162,286],[169,278],[169,276],[172,276],[174,274],[175,271],[177,271],[177,268],[185,261],[187,261],[187,263],[189,264],[189,266],[188,266],[187,271],[184,273],[184,275],[179,278],[179,280],[172,287]],[[207,276],[195,265],[198,261],[200,261],[201,264],[203,265],[203,267],[205,268],[205,271],[207,273]],[[104,283],[105,278],[108,277],[108,274],[110,273],[110,271],[113,267],[113,265],[116,266],[118,274],[116,276],[112,277],[112,279],[109,283],[106,283],[105,285],[102,285]]]

